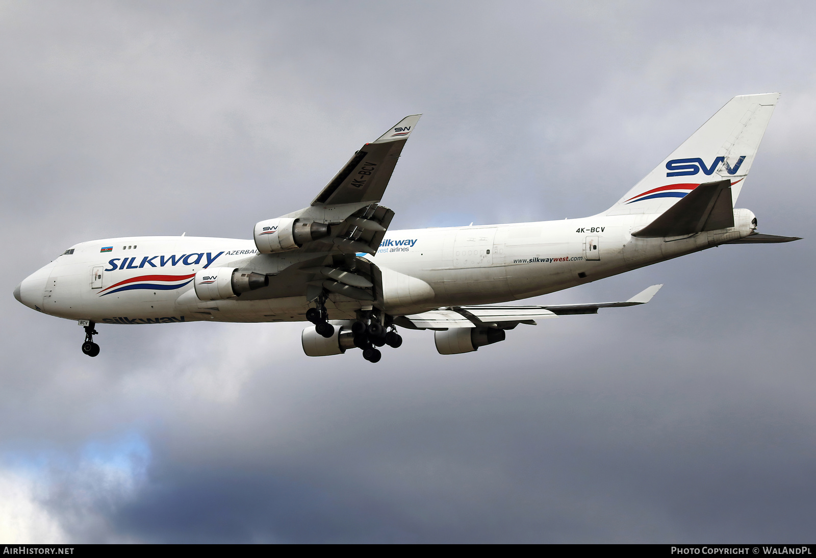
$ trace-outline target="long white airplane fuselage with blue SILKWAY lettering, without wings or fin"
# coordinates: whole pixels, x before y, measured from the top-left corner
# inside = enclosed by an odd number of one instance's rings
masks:
[[[734,228],[678,239],[636,238],[654,215],[596,215],[538,223],[388,231],[375,256],[383,273],[385,312],[402,315],[443,306],[499,303],[577,286],[634,268],[747,237],[753,214],[734,210]],[[104,248],[109,251],[102,252]],[[315,254],[259,254],[251,240],[127,237],[82,242],[73,253],[27,277],[19,299],[40,312],[97,323],[304,321],[302,293],[180,304],[202,268],[235,267],[276,274]],[[396,273],[393,273],[396,272]],[[431,290],[388,297],[407,278]],[[130,281],[130,282],[128,282]],[[417,282],[420,282],[417,281]],[[409,285],[410,286],[410,285]],[[408,287],[406,287],[407,289]],[[411,287],[413,288],[413,287]],[[428,294],[429,293],[429,294]],[[330,294],[332,319],[353,318],[365,303]]]

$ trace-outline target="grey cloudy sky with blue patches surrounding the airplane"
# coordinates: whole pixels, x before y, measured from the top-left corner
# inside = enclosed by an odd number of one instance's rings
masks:
[[[712,5],[713,4],[713,5]],[[816,516],[811,2],[0,2],[2,542],[803,542]],[[379,365],[303,324],[82,329],[79,241],[251,237],[424,117],[392,228],[611,206],[781,91],[722,246],[531,302],[645,306]]]

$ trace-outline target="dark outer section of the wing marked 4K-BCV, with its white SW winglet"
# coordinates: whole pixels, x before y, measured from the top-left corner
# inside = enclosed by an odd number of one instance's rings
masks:
[[[421,114],[406,116],[379,139],[363,145],[317,194],[313,206],[379,202],[397,165],[402,148]]]

